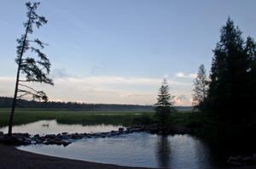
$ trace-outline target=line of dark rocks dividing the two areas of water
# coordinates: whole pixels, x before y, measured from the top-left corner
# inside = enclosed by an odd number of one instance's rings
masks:
[[[118,136],[121,134],[129,134],[132,132],[149,132],[154,134],[186,134],[190,130],[183,127],[157,127],[157,126],[131,126],[131,127],[119,127],[117,131],[111,132],[96,132],[96,133],[67,133],[62,132],[58,134],[46,134],[46,135],[30,135],[29,133],[13,133],[12,136],[3,134],[0,132],[0,143],[11,144],[15,146],[29,145],[29,144],[56,144],[67,146],[72,144],[73,140],[82,138],[109,138]]]

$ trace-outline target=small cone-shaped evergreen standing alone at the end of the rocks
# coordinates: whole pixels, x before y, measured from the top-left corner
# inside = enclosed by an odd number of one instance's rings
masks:
[[[160,121],[161,126],[166,126],[170,115],[175,110],[173,108],[172,102],[173,97],[169,93],[169,90],[170,87],[168,85],[168,82],[166,81],[166,79],[164,79],[159,89],[157,103],[155,104],[155,115]]]

